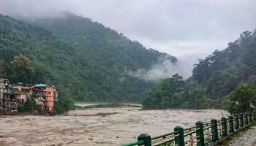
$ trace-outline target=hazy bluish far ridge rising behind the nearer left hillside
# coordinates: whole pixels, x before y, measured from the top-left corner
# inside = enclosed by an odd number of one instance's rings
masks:
[[[131,41],[117,31],[71,12],[61,12],[56,18],[37,19],[34,23],[53,31],[53,34],[72,44],[79,53],[86,54],[98,64],[108,68],[111,66],[121,72],[125,69],[148,69],[163,56],[176,61],[173,56],[157,50],[147,50],[139,42]]]

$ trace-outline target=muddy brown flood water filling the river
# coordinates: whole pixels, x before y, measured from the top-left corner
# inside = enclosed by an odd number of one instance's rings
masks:
[[[121,145],[138,134],[152,137],[175,126],[194,126],[227,113],[222,110],[140,110],[94,108],[70,111],[67,116],[0,115],[0,146]]]

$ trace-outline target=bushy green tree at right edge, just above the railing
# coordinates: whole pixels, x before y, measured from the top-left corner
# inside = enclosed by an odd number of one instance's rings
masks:
[[[256,105],[256,88],[241,83],[227,95],[225,109],[230,113],[248,112]]]

